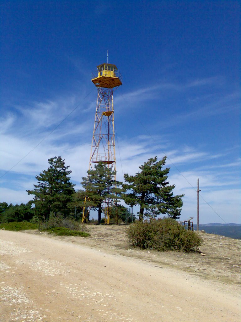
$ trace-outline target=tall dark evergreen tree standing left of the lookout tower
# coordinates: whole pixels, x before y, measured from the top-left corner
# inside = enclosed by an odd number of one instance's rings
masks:
[[[75,192],[74,185],[68,175],[72,171],[65,166],[65,160],[61,156],[48,159],[49,168],[36,176],[38,184],[33,190],[27,190],[28,194],[34,194],[32,203],[35,204],[35,214],[44,220],[49,218],[50,213],[69,213],[68,203],[72,201]]]

